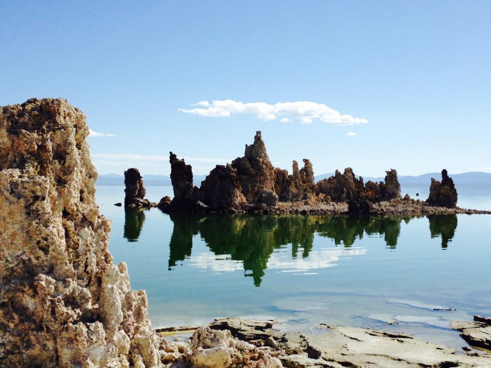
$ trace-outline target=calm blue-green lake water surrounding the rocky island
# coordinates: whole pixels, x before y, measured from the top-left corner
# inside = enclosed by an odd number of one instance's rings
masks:
[[[466,343],[450,321],[491,314],[491,215],[169,216],[125,213],[114,206],[123,190],[99,187],[97,199],[112,221],[109,249],[132,288],[146,290],[155,328],[276,318],[286,331],[339,324],[458,348]],[[403,188],[417,192],[428,195]],[[172,188],[147,188],[153,201],[164,195]],[[486,191],[459,190],[462,207],[490,204]]]

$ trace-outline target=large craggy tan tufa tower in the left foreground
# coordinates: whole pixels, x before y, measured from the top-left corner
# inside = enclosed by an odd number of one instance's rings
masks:
[[[113,264],[84,114],[0,108],[0,366],[156,367],[144,291]]]

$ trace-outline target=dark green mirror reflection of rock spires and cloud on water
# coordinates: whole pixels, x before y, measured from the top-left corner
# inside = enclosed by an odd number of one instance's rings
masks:
[[[170,238],[168,269],[184,260],[190,266],[211,268],[214,272],[243,269],[259,286],[266,268],[281,272],[312,273],[311,270],[331,267],[342,257],[366,253],[354,247],[364,236],[382,237],[388,248],[395,249],[401,223],[409,216],[250,216],[250,215],[170,215],[173,232]],[[431,237],[441,237],[446,249],[455,235],[456,215],[428,216]],[[137,241],[145,213],[126,210],[124,237]],[[193,254],[193,237],[199,235],[208,252]],[[313,250],[315,235],[332,239],[342,247]],[[286,245],[291,244],[291,251]],[[276,250],[276,251],[275,251]]]

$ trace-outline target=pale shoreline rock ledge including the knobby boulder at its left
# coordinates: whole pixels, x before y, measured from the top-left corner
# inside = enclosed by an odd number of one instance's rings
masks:
[[[186,351],[183,358],[176,357],[174,364],[181,361],[194,367],[285,368],[491,366],[491,355],[486,353],[458,353],[405,333],[321,324],[318,333],[306,335],[281,333],[273,328],[275,323],[275,320],[215,319],[207,326],[196,328],[187,346],[182,348]],[[183,329],[193,328],[174,330]],[[157,333],[168,334],[170,330],[157,330]],[[217,343],[216,339],[222,341]]]

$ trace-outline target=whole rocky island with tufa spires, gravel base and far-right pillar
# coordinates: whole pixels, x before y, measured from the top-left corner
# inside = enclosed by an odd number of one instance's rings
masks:
[[[201,182],[193,183],[193,172],[184,159],[170,152],[174,198],[164,197],[158,207],[166,213],[219,212],[262,214],[457,214],[489,213],[457,207],[457,190],[447,170],[442,181],[432,179],[427,201],[401,197],[397,171],[386,171],[384,181],[364,183],[351,168],[315,182],[310,160],[292,165],[292,174],[271,164],[257,131],[243,157],[217,165]]]

